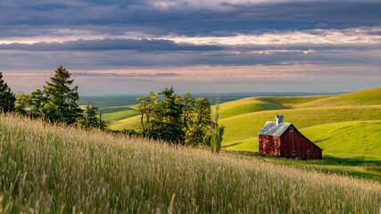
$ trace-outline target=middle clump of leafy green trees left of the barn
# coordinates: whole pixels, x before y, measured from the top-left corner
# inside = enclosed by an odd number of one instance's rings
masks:
[[[207,98],[195,99],[190,93],[176,95],[170,87],[157,94],[150,91],[137,100],[139,134],[173,144],[208,146],[219,152],[224,127],[218,125],[218,112],[216,119],[211,120],[211,103]]]

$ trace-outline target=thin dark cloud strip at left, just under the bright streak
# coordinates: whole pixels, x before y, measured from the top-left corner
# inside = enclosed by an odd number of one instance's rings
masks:
[[[17,50],[26,52],[61,52],[61,51],[220,51],[224,48],[216,45],[176,44],[162,39],[100,39],[69,41],[63,43],[13,43],[0,45],[0,50]]]

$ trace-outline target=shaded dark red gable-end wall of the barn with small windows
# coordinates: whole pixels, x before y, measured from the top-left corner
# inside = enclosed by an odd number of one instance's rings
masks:
[[[290,128],[294,128],[290,126]],[[290,132],[290,128],[288,128],[285,133],[280,137],[281,138],[281,147],[280,151],[281,157],[286,158],[301,158],[303,160],[309,159],[321,159],[322,151],[315,144],[311,144],[311,142],[302,134],[294,128],[293,132]],[[311,153],[308,154],[307,150],[310,150]],[[295,151],[295,155],[293,155],[293,151]]]

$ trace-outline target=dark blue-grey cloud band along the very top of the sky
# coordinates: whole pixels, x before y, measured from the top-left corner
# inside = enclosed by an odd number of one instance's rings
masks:
[[[233,4],[195,8],[190,1],[171,1],[167,9],[153,1],[7,0],[0,6],[0,37],[9,30],[21,35],[46,29],[87,29],[94,33],[141,31],[153,35],[228,36],[272,30],[347,29],[380,26],[380,1],[309,1]],[[204,4],[208,4],[206,1]],[[223,9],[220,9],[222,7]],[[54,33],[54,32],[52,32]]]

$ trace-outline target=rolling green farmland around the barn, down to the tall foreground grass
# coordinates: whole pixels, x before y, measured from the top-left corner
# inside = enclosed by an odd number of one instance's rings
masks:
[[[260,96],[221,103],[223,148],[255,154],[262,126],[283,114],[285,122],[324,150],[323,161],[264,160],[381,181],[379,97],[381,88],[373,88],[344,95]],[[114,121],[111,128],[136,128],[138,123],[139,116],[133,116]]]

